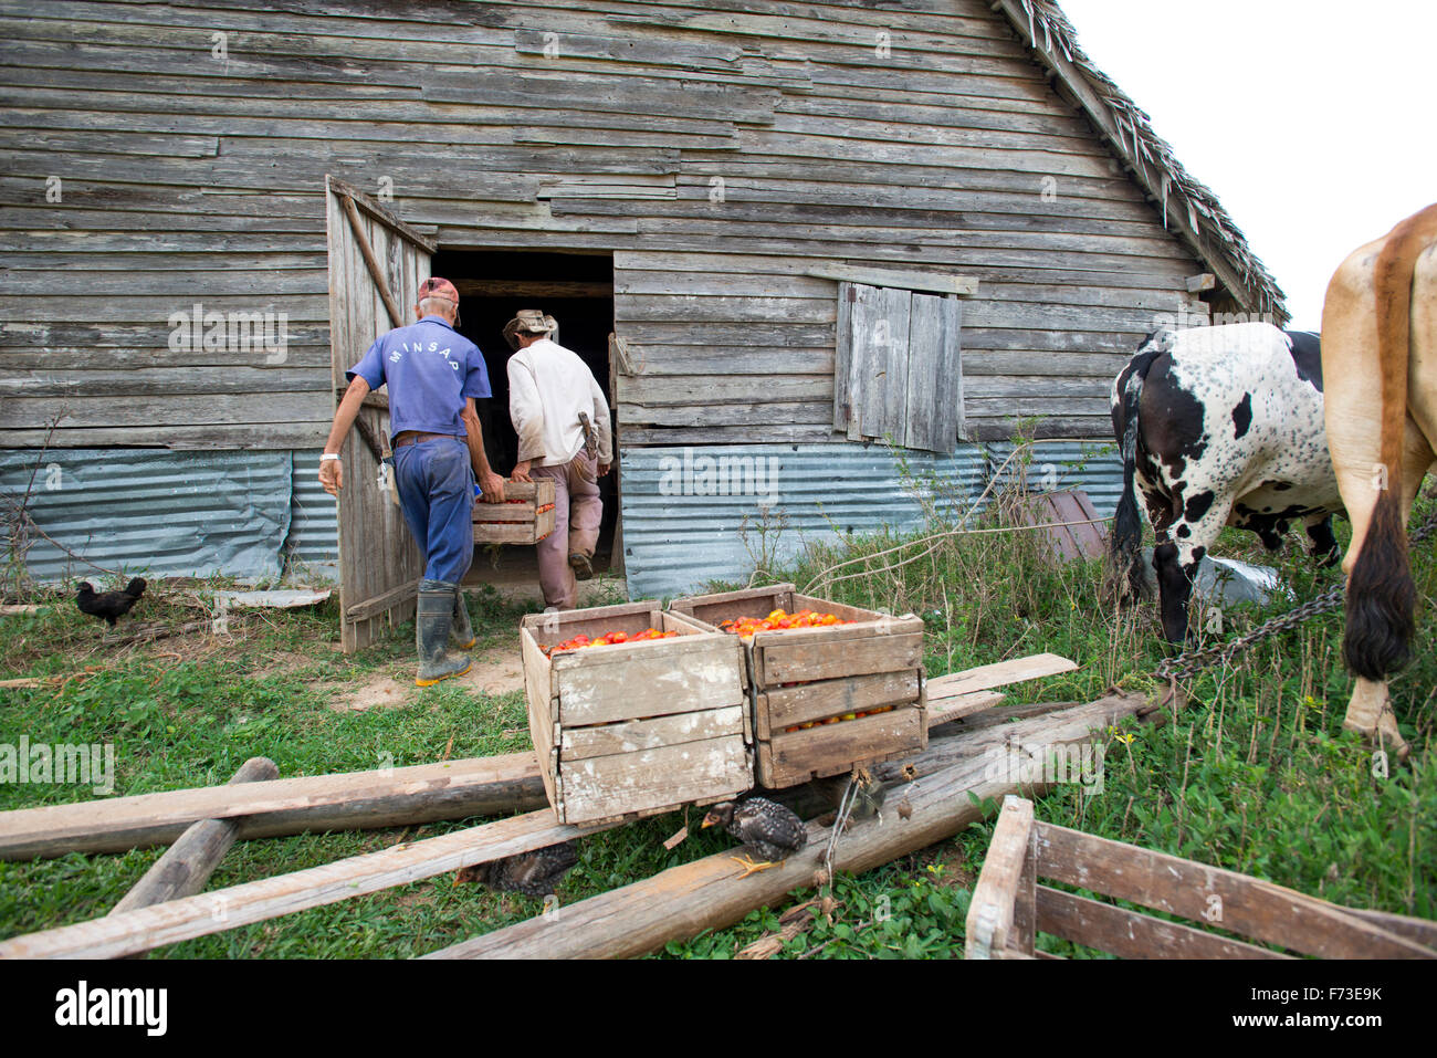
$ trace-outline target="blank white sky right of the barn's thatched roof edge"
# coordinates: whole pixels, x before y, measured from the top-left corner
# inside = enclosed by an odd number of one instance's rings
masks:
[[[1433,0],[1059,0],[1316,331],[1342,259],[1437,201]]]

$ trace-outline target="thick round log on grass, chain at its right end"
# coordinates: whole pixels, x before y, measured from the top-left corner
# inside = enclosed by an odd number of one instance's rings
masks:
[[[920,778],[890,791],[881,818],[856,824],[839,837],[835,870],[858,874],[953,837],[984,815],[981,804],[974,804],[970,794],[983,802],[1002,801],[1006,794],[1045,791],[1048,783],[1012,778],[994,768],[996,762],[1009,759],[1010,746],[1022,746],[1023,750],[1013,752],[1026,752],[1042,775],[1046,750],[1088,742],[1094,730],[1135,716],[1145,703],[1141,694],[1109,696],[1061,713],[935,740],[914,759]],[[937,766],[928,760],[935,752],[941,760]],[[902,812],[898,811],[901,801],[907,801]],[[819,884],[829,831],[810,822],[808,832],[809,842],[802,852],[747,878],[739,877],[741,868],[733,861],[737,850],[720,852],[425,957],[619,959],[644,954],[670,940],[723,929],[756,907],[780,903],[792,890]]]

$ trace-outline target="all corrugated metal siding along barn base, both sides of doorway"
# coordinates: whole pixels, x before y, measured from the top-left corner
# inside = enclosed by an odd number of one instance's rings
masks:
[[[928,513],[956,518],[1010,451],[1012,444],[966,444],[950,457],[861,444],[625,450],[629,595],[744,579],[760,556],[783,564],[805,542],[836,533],[908,532]],[[0,451],[0,492],[23,494],[34,457]],[[56,450],[36,476],[30,507],[57,540],[126,574],[272,578],[297,561],[306,579],[335,579],[335,500],[318,474],[318,450]],[[1104,516],[1122,487],[1117,453],[1099,443],[1040,441],[1029,477],[1083,489]],[[763,526],[780,525],[766,540]],[[29,566],[40,581],[96,575],[43,539]]]

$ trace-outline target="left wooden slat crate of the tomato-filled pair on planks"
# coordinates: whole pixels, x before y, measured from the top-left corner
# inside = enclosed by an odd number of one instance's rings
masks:
[[[677,638],[562,651],[583,634]],[[753,786],[743,650],[658,602],[529,614],[520,622],[529,732],[560,822],[612,822]]]

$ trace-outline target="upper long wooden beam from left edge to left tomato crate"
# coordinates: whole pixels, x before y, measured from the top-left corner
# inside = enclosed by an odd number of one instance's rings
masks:
[[[509,753],[19,808],[0,812],[0,860],[168,845],[201,819],[246,816],[240,837],[249,840],[466,819],[547,804],[535,755]]]

